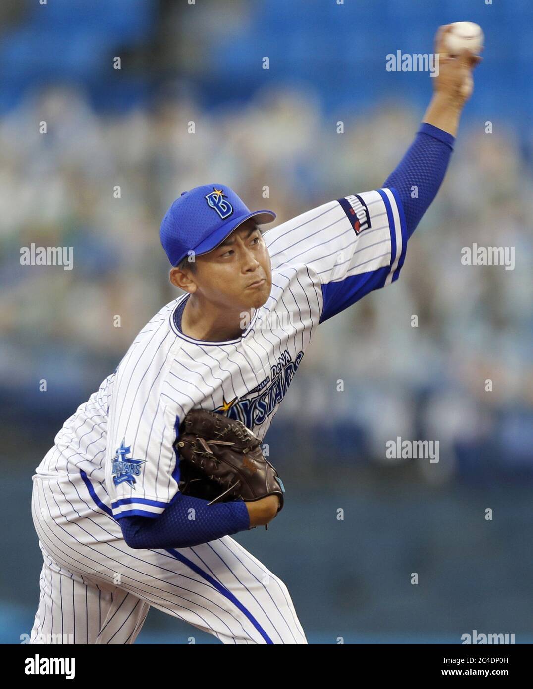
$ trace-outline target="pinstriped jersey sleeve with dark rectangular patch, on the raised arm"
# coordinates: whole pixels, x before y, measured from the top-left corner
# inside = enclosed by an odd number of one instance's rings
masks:
[[[397,280],[407,247],[404,209],[395,189],[352,194],[273,228],[265,241],[273,268],[303,263],[315,271],[324,322]]]

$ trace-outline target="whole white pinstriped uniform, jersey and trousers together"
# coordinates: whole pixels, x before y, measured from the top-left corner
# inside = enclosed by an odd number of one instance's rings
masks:
[[[358,234],[344,200],[264,234],[272,290],[242,337],[182,333],[174,320],[182,296],[65,422],[34,477],[44,563],[32,639],[66,629],[73,643],[130,644],[155,606],[224,644],[306,643],[285,584],[230,537],[135,551],[116,520],[157,516],[172,500],[176,428],[191,409],[238,418],[263,439],[326,308],[336,313],[397,278],[406,248],[397,197],[383,189],[359,198],[370,227]],[[134,481],[115,482],[118,459],[142,462]]]

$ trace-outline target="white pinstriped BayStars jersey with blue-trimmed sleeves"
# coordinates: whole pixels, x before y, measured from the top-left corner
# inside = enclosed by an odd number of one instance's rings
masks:
[[[162,513],[178,490],[173,444],[185,415],[222,411],[264,438],[314,329],[395,280],[406,239],[391,189],[332,200],[270,229],[271,295],[242,337],[194,340],[174,318],[188,296],[170,302],[65,422],[37,473],[105,482],[116,518]]]

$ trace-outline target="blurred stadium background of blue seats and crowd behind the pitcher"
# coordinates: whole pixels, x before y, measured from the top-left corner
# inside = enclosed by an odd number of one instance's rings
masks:
[[[317,332],[266,437],[286,507],[236,538],[312,643],[533,641],[530,0],[19,0],[0,8],[1,642],[39,597],[34,468],[178,296],[158,241],[171,200],[223,181],[282,222],[380,187],[432,87],[386,54],[431,52],[463,19],[487,48],[448,177],[395,286]],[[21,266],[31,243],[74,247],[74,269]],[[472,243],[515,247],[515,269],[461,265]],[[439,464],[386,460],[398,435],[439,440]],[[191,636],[213,643],[152,610],[138,643]]]

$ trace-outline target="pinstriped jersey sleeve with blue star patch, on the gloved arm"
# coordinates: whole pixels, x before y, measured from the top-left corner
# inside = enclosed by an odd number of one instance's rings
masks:
[[[174,442],[186,412],[167,377],[157,356],[118,369],[106,440],[106,484],[117,520],[158,517],[178,492]]]

